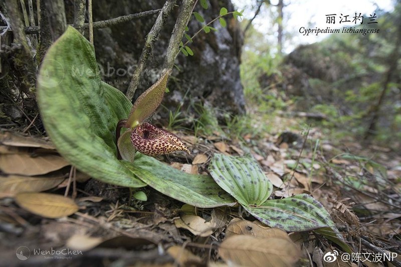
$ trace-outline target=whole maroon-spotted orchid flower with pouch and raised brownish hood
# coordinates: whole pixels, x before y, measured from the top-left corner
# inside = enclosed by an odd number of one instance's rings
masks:
[[[144,121],[160,105],[170,73],[171,70],[164,70],[161,77],[135,101],[128,119],[120,120],[117,124],[116,139],[119,159],[132,161],[135,149],[149,156],[178,150],[190,153],[176,135]],[[128,130],[120,137],[121,127],[128,128]]]

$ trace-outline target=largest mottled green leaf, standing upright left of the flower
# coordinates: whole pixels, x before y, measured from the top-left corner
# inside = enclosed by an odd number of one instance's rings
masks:
[[[48,135],[74,166],[104,182],[146,185],[116,156],[115,127],[131,103],[100,79],[93,46],[73,27],[46,53],[37,96]]]

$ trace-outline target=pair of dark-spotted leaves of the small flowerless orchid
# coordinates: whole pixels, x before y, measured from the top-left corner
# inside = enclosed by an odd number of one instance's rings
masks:
[[[223,189],[263,223],[285,231],[315,230],[350,251],[329,213],[312,196],[267,200],[273,186],[255,160],[215,154],[209,171]]]

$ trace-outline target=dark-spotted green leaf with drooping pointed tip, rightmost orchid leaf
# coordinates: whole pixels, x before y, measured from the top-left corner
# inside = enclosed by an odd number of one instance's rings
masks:
[[[254,215],[270,227],[280,228],[285,231],[316,230],[328,239],[350,250],[344,243],[344,239],[336,228],[330,214],[323,205],[308,194],[298,194],[283,199],[273,199],[258,206],[244,206],[249,213]]]

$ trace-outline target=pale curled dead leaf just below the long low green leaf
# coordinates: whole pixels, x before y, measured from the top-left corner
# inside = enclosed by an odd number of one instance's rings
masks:
[[[211,235],[217,227],[214,221],[206,221],[202,217],[191,214],[182,214],[181,217],[174,219],[174,224],[178,228],[189,230],[194,235],[204,237]]]

